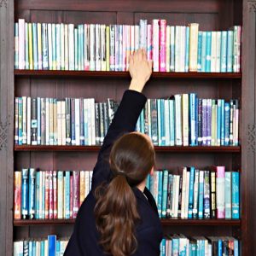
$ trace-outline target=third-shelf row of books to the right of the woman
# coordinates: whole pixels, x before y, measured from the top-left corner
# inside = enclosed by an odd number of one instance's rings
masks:
[[[225,172],[224,166],[181,172],[155,171],[147,179],[160,218],[240,218],[239,172]]]

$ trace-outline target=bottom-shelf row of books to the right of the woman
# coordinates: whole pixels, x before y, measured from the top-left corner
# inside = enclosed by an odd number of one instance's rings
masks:
[[[239,241],[232,236],[166,236],[160,244],[160,256],[238,256]]]

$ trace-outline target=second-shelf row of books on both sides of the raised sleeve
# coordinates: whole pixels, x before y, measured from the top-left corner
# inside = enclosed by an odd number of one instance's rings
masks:
[[[118,103],[95,99],[15,98],[15,144],[101,145]],[[148,99],[137,131],[159,146],[237,146],[238,100],[201,99],[195,93]]]

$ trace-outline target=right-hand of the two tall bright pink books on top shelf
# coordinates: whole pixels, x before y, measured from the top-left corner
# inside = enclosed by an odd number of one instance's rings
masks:
[[[160,72],[166,72],[166,20],[160,20]]]

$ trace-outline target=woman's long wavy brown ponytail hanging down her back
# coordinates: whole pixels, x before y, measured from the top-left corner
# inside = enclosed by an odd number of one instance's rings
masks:
[[[96,189],[96,228],[105,253],[128,256],[135,253],[135,224],[139,220],[137,201],[126,177],[119,174],[108,187]]]

